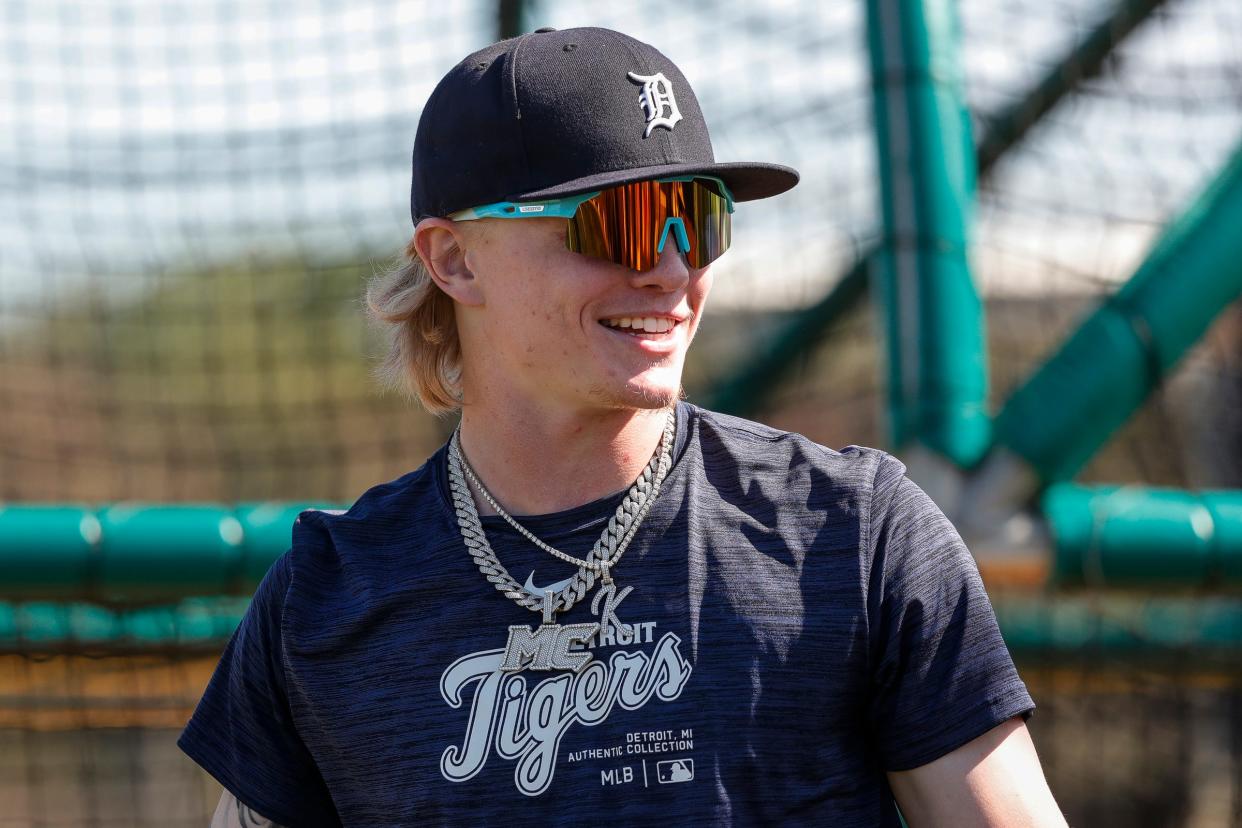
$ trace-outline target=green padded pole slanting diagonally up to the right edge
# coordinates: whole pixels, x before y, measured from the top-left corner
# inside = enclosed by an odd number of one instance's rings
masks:
[[[1242,145],[1110,295],[1005,403],[996,441],[1067,480],[1242,294]]]

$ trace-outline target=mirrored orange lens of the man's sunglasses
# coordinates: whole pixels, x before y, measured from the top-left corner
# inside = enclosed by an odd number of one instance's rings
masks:
[[[681,218],[693,268],[707,267],[729,250],[729,204],[713,181],[636,181],[605,190],[584,201],[569,220],[569,250],[635,271],[656,267],[656,246],[668,218]],[[676,228],[669,228],[664,250],[677,250]]]

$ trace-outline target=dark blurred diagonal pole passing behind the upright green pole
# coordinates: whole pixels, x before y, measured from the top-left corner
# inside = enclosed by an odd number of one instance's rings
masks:
[[[976,150],[979,178],[985,179],[994,164],[1022,140],[1045,113],[1084,79],[1098,74],[1117,46],[1159,5],[1156,0],[1120,0],[1098,26],[1057,61],[1045,78],[1012,107],[986,119],[986,134]],[[876,254],[874,247],[861,251],[856,263],[823,299],[791,319],[776,335],[759,343],[750,361],[704,395],[704,405],[740,416],[758,412],[771,390],[797,365],[796,356],[821,344],[826,328],[867,297],[867,274]]]

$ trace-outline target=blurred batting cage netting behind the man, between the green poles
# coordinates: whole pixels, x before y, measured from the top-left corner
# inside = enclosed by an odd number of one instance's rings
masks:
[[[1238,153],[1242,4],[958,15],[997,411]],[[348,505],[436,451],[453,423],[380,387],[364,292],[412,232],[421,103],[538,26],[653,43],[719,160],[802,174],[739,205],[689,400],[886,447],[882,319],[857,278],[882,232],[862,2],[16,0],[0,20],[0,559],[6,505]],[[1240,361],[1233,300],[1076,480],[1242,487]],[[1242,826],[1236,580],[985,580],[1071,824]],[[0,827],[205,824],[220,787],[174,741],[245,605],[0,580]]]

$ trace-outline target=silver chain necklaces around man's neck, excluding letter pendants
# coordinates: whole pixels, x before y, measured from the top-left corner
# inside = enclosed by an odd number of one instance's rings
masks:
[[[672,443],[673,433],[676,430],[676,413],[674,410],[669,410],[668,417],[664,421],[664,433],[660,442],[660,449],[652,456],[651,461],[643,468],[642,474],[638,479],[633,482],[630,490],[626,493],[625,500],[617,506],[616,513],[609,519],[607,526],[605,526],[604,533],[600,539],[595,541],[595,546],[587,555],[586,560],[566,555],[560,550],[545,544],[534,536],[525,526],[520,525],[517,520],[505,511],[496,498],[487,490],[474,470],[469,467],[466,461],[466,456],[461,448],[461,427],[458,427],[448,443],[448,488],[453,498],[453,508],[457,513],[457,526],[461,529],[462,540],[466,544],[466,549],[469,551],[474,565],[478,571],[483,574],[504,597],[509,598],[518,606],[525,607],[532,612],[542,612],[544,614],[544,623],[549,624],[553,621],[554,613],[568,611],[575,603],[578,603],[582,597],[590,592],[591,587],[595,586],[596,577],[602,578],[604,583],[611,585],[612,578],[610,570],[621,559],[630,541],[633,540],[638,526],[642,524],[647,513],[651,510],[652,503],[660,495],[660,488],[668,475],[669,468],[672,468]],[[496,552],[492,550],[492,545],[487,540],[487,535],[483,531],[483,524],[478,516],[478,509],[474,505],[474,498],[471,494],[469,484],[467,478],[473,483],[483,498],[496,509],[496,513],[501,515],[510,526],[522,533],[522,535],[534,542],[537,546],[544,551],[554,555],[555,557],[578,566],[578,572],[574,575],[573,580],[565,586],[559,593],[551,593],[550,591],[544,596],[534,596],[527,592],[520,583],[518,583],[504,565],[501,564]]]

